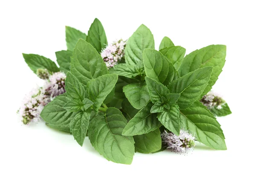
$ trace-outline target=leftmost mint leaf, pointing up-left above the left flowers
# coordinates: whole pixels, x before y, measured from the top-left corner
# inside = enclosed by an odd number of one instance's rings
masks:
[[[50,73],[59,71],[57,65],[49,58],[35,54],[22,53],[22,55],[23,58],[25,59],[25,62],[28,64],[29,68],[35,74],[38,69],[47,69]]]

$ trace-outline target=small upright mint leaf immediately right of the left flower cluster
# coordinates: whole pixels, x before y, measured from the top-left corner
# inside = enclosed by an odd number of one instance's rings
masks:
[[[72,99],[84,99],[87,97],[87,92],[84,85],[70,72],[67,73],[65,80],[65,90],[67,95]]]

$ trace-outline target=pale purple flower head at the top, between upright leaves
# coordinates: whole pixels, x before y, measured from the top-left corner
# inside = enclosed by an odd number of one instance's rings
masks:
[[[126,41],[120,39],[118,41],[114,41],[112,44],[108,44],[108,46],[102,50],[101,56],[108,69],[114,67],[119,61],[121,61],[122,57],[125,55],[125,44]]]

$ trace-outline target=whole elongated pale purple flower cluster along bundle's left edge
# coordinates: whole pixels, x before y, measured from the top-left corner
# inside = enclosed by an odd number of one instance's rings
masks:
[[[49,74],[48,71],[44,69],[38,71],[45,72],[44,74]],[[39,77],[41,78],[41,76]],[[44,81],[43,87],[32,89],[23,99],[23,103],[18,111],[23,124],[27,125],[29,122],[40,121],[40,113],[44,106],[56,96],[65,92],[65,73],[53,73],[52,76],[49,76],[48,78],[49,79]]]

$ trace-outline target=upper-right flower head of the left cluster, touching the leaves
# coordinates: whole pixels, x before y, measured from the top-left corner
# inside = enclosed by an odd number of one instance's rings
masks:
[[[65,93],[65,79],[65,73],[53,73],[52,76],[49,76],[49,81],[44,84],[45,92],[47,92],[51,98]]]

